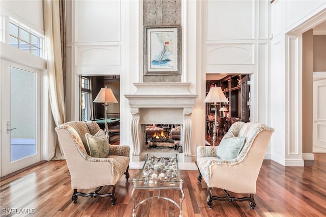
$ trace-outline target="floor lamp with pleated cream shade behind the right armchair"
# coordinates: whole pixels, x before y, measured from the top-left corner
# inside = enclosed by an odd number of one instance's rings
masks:
[[[204,100],[204,102],[207,103],[214,103],[214,108],[215,108],[215,119],[214,119],[214,128],[213,128],[213,146],[215,146],[216,142],[216,119],[217,119],[217,103],[218,102],[229,102],[229,100],[225,97],[222,88],[221,87],[212,87],[209,89],[209,92]]]

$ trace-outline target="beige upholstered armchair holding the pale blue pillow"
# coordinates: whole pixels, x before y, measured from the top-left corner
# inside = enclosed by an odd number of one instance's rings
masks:
[[[249,201],[254,209],[256,181],[273,131],[261,123],[235,122],[219,146],[197,148],[198,180],[203,177],[207,183],[208,208],[213,200],[228,200]],[[226,196],[212,196],[213,187],[223,189]],[[236,198],[227,191],[249,196]]]

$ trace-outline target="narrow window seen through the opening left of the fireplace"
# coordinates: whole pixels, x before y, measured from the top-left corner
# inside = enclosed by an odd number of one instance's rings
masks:
[[[80,76],[80,120],[92,120],[92,102],[91,80],[88,77]]]

